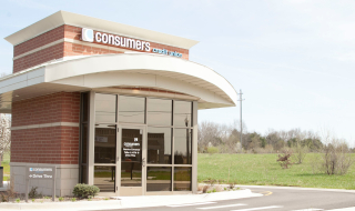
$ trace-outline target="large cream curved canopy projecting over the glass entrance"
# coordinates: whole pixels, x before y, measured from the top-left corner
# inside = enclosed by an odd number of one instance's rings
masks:
[[[0,111],[11,112],[12,101],[59,91],[126,93],[128,88],[165,90],[168,98],[197,100],[199,109],[236,104],[234,88],[205,66],[169,56],[120,53],[63,58],[2,78]]]

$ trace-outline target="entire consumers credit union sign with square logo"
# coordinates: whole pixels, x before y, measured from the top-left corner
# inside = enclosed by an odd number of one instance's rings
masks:
[[[176,51],[168,51],[165,49],[151,49],[151,43],[148,41],[93,31],[92,29],[87,29],[87,28],[82,28],[81,40],[85,42],[98,42],[98,43],[104,43],[104,44],[110,44],[114,47],[129,48],[129,49],[134,49],[139,51],[148,51],[148,52],[154,52],[160,54],[168,54],[168,56],[173,56],[179,58],[182,57],[182,53],[179,53]]]

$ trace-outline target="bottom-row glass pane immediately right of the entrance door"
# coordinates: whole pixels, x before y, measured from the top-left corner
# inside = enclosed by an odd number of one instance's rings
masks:
[[[148,167],[146,191],[171,191],[171,167]]]

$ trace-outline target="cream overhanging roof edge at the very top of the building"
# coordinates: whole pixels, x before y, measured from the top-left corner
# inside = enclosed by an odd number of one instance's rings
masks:
[[[138,28],[129,24],[118,23],[113,21],[102,20],[83,14],[77,14],[67,11],[58,11],[42,20],[34,22],[33,24],[21,29],[4,39],[13,46],[20,44],[27,40],[30,40],[39,34],[55,29],[62,24],[70,24],[75,27],[85,27],[105,32],[111,32],[120,36],[126,36],[135,39],[142,39],[146,41],[153,41],[168,46],[173,46],[183,49],[190,49],[199,41],[171,36],[158,31],[152,31],[143,28]]]

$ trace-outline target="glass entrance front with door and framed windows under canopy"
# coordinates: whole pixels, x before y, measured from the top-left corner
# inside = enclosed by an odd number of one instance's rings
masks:
[[[81,101],[82,183],[105,195],[192,192],[196,103],[95,92]]]

